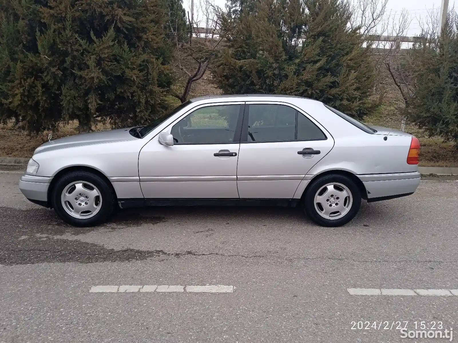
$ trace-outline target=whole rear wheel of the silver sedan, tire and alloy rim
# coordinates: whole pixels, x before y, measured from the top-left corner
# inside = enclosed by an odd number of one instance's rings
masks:
[[[341,226],[358,213],[361,193],[354,181],[344,175],[329,174],[319,177],[307,189],[304,211],[316,224]]]

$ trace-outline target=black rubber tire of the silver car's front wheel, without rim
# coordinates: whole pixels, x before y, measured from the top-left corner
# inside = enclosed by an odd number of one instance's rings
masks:
[[[90,182],[93,184],[98,189],[100,197],[102,198],[100,209],[92,217],[84,219],[75,218],[68,214],[62,205],[62,192],[72,182],[78,181]],[[65,221],[65,223],[79,227],[95,226],[108,220],[115,208],[115,199],[116,197],[113,193],[113,189],[107,181],[90,171],[71,171],[63,175],[57,180],[51,193],[53,208],[60,219]]]

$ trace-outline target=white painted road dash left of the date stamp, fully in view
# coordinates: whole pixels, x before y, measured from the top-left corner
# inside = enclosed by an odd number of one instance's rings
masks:
[[[97,285],[89,289],[89,293],[233,293],[234,286],[225,286],[223,284],[213,284],[206,286],[180,286],[180,285]]]

